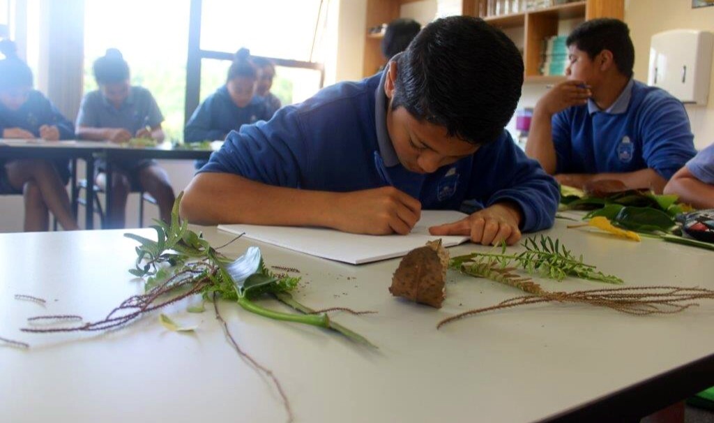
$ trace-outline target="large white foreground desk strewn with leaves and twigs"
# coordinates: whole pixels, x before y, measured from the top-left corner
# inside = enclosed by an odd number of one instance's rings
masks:
[[[585,262],[627,284],[714,288],[714,253],[658,240],[641,243],[565,229],[546,232]],[[211,244],[231,239],[201,228]],[[151,229],[132,232],[150,236]],[[99,334],[26,334],[26,318],[81,314],[86,321],[142,285],[126,272],[136,243],[124,231],[0,234],[0,404],[11,422],[285,422],[275,389],[239,359],[207,304],[164,310],[194,334],[169,332],[151,313]],[[258,245],[268,266],[294,267],[296,298],[313,308],[378,314],[331,317],[368,337],[377,351],[323,329],[274,322],[221,302],[241,347],[271,369],[296,422],[613,422],[639,417],[714,385],[714,302],[681,314],[635,317],[585,305],[543,304],[491,312],[436,330],[472,307],[521,295],[454,272],[443,308],[391,297],[398,259],[361,266],[238,239],[231,257]],[[463,254],[473,244],[450,249]],[[603,287],[538,279],[545,289]],[[46,307],[14,299],[29,294]],[[271,300],[268,307],[286,309]],[[287,309],[286,309],[287,310]]]

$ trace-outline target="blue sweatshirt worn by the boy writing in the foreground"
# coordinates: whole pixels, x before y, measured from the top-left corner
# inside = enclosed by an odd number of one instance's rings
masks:
[[[386,131],[383,75],[329,86],[278,110],[271,121],[242,126],[228,134],[201,172],[321,191],[393,185],[419,199],[423,209],[459,210],[465,200],[480,207],[513,201],[523,211],[524,232],[552,226],[558,186],[507,131],[432,174],[405,169]]]

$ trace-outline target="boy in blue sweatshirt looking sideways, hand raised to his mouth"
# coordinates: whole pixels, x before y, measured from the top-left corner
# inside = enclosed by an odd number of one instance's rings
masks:
[[[526,154],[561,184],[617,179],[660,194],[695,154],[684,107],[633,79],[635,49],[623,21],[585,21],[566,43],[568,81],[536,104]]]

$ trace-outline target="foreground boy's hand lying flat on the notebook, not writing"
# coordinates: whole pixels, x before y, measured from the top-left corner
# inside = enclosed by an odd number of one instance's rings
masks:
[[[516,244],[521,239],[521,208],[515,203],[497,203],[479,210],[458,222],[429,228],[429,233],[438,236],[470,236],[471,242],[483,245]]]

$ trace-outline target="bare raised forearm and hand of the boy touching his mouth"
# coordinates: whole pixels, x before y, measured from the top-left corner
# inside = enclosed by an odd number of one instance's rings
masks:
[[[583,85],[582,81],[564,81],[553,86],[538,100],[533,109],[526,155],[537,160],[548,174],[555,174],[558,167],[558,156],[553,143],[553,116],[570,106],[588,103],[588,97],[592,95],[590,89],[580,85]]]

